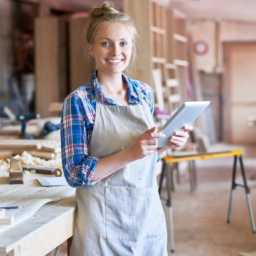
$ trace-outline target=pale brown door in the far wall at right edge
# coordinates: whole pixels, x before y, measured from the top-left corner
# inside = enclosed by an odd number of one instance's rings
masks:
[[[256,127],[248,118],[256,116],[256,42],[224,43],[224,140],[256,143]]]

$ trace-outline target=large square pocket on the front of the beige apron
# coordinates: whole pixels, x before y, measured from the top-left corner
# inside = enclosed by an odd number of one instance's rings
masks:
[[[166,222],[157,187],[106,186],[107,239],[137,241],[165,232]]]

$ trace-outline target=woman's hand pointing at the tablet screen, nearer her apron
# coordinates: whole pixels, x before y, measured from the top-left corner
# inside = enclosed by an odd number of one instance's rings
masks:
[[[141,134],[138,139],[135,141],[129,150],[131,154],[134,155],[135,159],[141,159],[145,156],[153,154],[157,149],[157,140],[156,138],[164,138],[165,134],[161,132],[154,132],[156,127],[152,127]]]

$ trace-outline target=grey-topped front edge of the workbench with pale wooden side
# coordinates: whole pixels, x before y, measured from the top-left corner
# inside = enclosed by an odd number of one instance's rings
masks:
[[[0,234],[0,256],[44,256],[51,252],[74,234],[75,211],[74,197],[43,205],[28,220]]]

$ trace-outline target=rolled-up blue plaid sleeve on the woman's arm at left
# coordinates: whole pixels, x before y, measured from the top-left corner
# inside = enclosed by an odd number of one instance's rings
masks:
[[[88,156],[88,128],[84,108],[75,95],[64,101],[61,115],[61,157],[68,184],[74,188],[93,185],[98,157]]]

